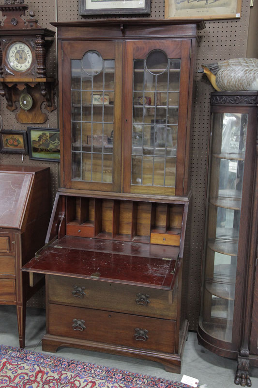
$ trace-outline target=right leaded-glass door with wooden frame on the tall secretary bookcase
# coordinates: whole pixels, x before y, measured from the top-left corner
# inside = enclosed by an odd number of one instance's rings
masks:
[[[124,191],[183,195],[190,41],[127,42]]]

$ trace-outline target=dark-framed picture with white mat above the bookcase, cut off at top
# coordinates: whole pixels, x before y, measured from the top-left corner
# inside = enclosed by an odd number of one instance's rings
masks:
[[[79,0],[79,15],[150,13],[151,0]]]

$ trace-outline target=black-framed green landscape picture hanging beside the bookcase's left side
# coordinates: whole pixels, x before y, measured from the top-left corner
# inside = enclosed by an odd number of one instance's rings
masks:
[[[30,159],[60,162],[60,132],[54,128],[28,127]]]

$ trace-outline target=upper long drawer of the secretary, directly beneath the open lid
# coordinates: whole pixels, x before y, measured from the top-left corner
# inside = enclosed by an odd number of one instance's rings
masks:
[[[67,276],[47,279],[49,302],[176,319],[177,298],[172,301],[171,290]]]

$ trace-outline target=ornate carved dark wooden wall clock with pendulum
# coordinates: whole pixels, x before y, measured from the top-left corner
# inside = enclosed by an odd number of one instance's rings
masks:
[[[20,123],[45,123],[45,109],[52,112],[54,104],[54,79],[46,75],[46,38],[52,38],[54,31],[40,27],[30,12],[30,19],[24,20],[28,5],[24,0],[5,0],[0,5],[0,95],[7,100],[7,109],[14,111],[17,101],[20,110],[16,119]]]

